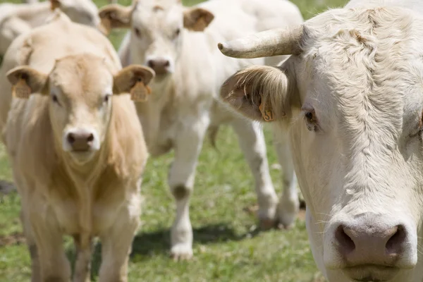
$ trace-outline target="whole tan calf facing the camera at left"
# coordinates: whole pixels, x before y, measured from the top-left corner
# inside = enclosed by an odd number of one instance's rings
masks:
[[[66,234],[78,250],[74,281],[90,281],[97,236],[99,281],[127,281],[147,161],[127,93],[142,98],[153,77],[142,66],[121,69],[106,37],[63,13],[8,49],[0,69],[0,103],[8,105],[4,142],[21,196],[32,281],[70,280]]]

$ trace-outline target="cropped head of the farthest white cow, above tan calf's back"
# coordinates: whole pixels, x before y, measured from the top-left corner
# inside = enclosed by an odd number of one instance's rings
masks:
[[[51,10],[59,8],[75,23],[98,27],[98,9],[91,0],[50,0]]]

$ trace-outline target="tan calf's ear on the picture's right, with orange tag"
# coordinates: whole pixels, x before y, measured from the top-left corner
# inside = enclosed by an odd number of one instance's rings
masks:
[[[156,73],[146,66],[130,65],[114,76],[114,94],[130,93],[135,102],[146,102],[152,90],[147,86]]]

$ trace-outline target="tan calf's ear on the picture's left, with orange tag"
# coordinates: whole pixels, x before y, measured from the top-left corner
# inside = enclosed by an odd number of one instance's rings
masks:
[[[28,99],[30,94],[47,93],[48,75],[40,73],[34,68],[18,66],[8,71],[6,77],[12,84],[13,97]]]

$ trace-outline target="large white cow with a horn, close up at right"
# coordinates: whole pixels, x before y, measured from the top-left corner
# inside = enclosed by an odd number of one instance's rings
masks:
[[[331,282],[423,281],[422,12],[422,1],[350,1],[219,44],[237,58],[292,54],[235,73],[221,97],[290,127],[312,253]]]

